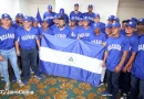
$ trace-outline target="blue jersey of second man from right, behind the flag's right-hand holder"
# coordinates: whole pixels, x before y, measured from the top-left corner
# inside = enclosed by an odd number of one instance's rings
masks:
[[[136,53],[137,48],[138,48],[138,36],[133,34],[132,36],[127,36],[128,42],[130,42],[130,52],[127,54],[126,61],[124,63],[124,66],[126,65],[126,63],[128,62],[132,53]]]

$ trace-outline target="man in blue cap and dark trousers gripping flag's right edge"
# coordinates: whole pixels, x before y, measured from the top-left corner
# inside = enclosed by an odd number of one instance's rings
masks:
[[[107,88],[102,96],[112,96],[117,99],[119,78],[123,64],[130,51],[130,43],[126,36],[120,34],[121,24],[115,22],[112,24],[113,36],[106,41],[106,51],[102,66],[106,65]]]

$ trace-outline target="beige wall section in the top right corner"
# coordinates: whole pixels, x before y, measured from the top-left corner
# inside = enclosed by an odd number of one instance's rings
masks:
[[[144,1],[141,0],[120,0],[117,16],[122,20],[135,18],[144,18]]]

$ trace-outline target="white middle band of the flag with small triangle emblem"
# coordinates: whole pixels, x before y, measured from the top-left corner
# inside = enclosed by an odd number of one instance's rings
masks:
[[[95,74],[102,73],[102,61],[84,55],[55,51],[49,47],[41,47],[40,59],[65,66],[73,66]]]

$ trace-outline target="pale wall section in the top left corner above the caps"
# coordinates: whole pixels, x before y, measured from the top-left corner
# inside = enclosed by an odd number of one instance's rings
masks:
[[[19,0],[1,0],[0,1],[0,18],[2,13],[9,13],[12,19],[20,12]]]

